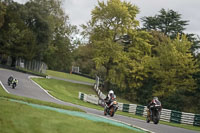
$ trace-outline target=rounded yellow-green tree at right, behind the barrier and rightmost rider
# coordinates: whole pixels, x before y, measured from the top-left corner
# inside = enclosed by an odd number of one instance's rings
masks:
[[[180,39],[181,38],[181,39]],[[180,96],[182,102],[174,103],[173,109],[183,110],[186,94],[194,92],[196,81],[193,75],[199,71],[196,60],[190,52],[191,42],[186,36],[178,36],[175,40],[157,48],[158,56],[152,58],[151,70],[156,84],[153,95],[163,99],[163,105],[172,108],[170,97]],[[165,100],[164,100],[165,99]],[[167,102],[166,102],[166,99]],[[170,103],[170,104],[169,104]]]

